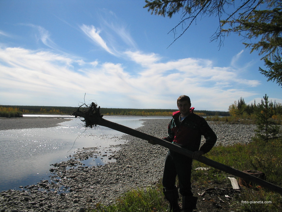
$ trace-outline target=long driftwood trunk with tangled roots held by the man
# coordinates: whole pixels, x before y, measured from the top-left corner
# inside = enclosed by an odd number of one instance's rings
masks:
[[[84,104],[85,105],[85,104]],[[83,105],[81,105],[83,106]],[[140,138],[140,139],[144,139],[144,140],[153,140],[155,142],[155,144],[158,144],[160,146],[164,146],[168,149],[171,149],[175,152],[178,152],[180,154],[186,155],[188,157],[192,157],[192,152],[190,150],[181,148],[180,146],[177,146],[175,144],[172,144],[168,141],[165,141],[163,139],[154,137],[152,135],[140,132],[138,130],[108,121],[103,119],[103,115],[100,114],[100,107],[97,107],[97,104],[93,103],[90,106],[85,105],[86,107],[79,107],[77,109],[77,111],[75,111],[72,115],[74,115],[75,117],[82,117],[84,118],[84,120],[82,120],[83,122],[85,122],[85,127],[93,127],[93,126],[104,126],[104,127],[108,127],[117,131],[120,131],[122,133],[126,133],[128,135],[132,135],[134,137]],[[267,182],[263,179],[260,179],[258,177],[252,176],[248,173],[242,172],[240,170],[237,170],[235,168],[232,168],[230,166],[226,166],[224,164],[218,163],[216,161],[213,161],[211,159],[208,159],[204,156],[200,156],[197,161],[200,161],[201,163],[204,163],[208,166],[211,166],[213,168],[222,170],[226,173],[232,174],[234,176],[237,176],[239,178],[243,178],[246,179],[248,181],[251,181],[257,185],[260,185],[262,187],[265,187],[266,189],[269,189],[271,191],[277,192],[279,194],[282,195],[282,188],[274,185],[270,182]]]

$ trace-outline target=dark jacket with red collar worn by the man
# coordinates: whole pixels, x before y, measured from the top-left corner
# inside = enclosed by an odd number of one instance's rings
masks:
[[[200,150],[207,153],[214,146],[217,137],[206,120],[202,116],[194,114],[193,110],[194,108],[190,109],[190,114],[182,122],[180,121],[180,111],[173,113],[173,118],[168,124],[168,137],[165,137],[164,140],[194,152],[199,150],[203,135],[206,142]]]

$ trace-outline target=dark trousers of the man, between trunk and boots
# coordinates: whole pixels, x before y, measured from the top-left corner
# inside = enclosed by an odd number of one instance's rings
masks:
[[[179,192],[182,196],[192,196],[191,169],[193,159],[174,152],[168,151],[164,163],[162,185],[166,190],[175,189],[176,176],[179,181]]]

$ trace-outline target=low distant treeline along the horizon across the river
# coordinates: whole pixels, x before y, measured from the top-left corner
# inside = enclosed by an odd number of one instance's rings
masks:
[[[57,106],[11,106],[1,105],[3,108],[15,108],[21,114],[72,114],[77,107],[57,107]],[[100,108],[100,113],[104,115],[129,115],[129,116],[171,116],[176,109],[121,109],[121,108]],[[224,111],[194,111],[200,116],[229,116]],[[1,114],[0,114],[1,116]]]

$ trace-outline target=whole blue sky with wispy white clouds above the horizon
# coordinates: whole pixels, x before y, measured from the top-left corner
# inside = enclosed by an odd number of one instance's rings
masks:
[[[231,34],[210,42],[217,18],[198,18],[176,42],[179,15],[147,12],[144,0],[1,0],[0,105],[227,111],[246,103],[282,102],[281,89],[259,73],[257,52]],[[181,34],[177,30],[176,36]],[[169,47],[168,47],[169,46]]]

